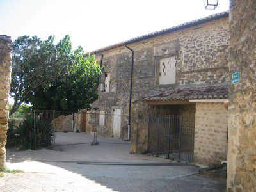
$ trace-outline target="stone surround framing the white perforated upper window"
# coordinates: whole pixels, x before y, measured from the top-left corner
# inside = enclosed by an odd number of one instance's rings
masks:
[[[174,52],[174,53],[171,53],[171,54],[164,54],[162,56],[155,56],[154,58],[154,63],[155,63],[155,71],[156,71],[156,74],[155,74],[155,85],[156,86],[159,86],[159,87],[169,87],[169,86],[175,86],[177,84],[177,76],[175,76],[175,83],[170,83],[170,84],[159,84],[159,73],[160,73],[160,60],[164,59],[164,58],[170,58],[170,57],[176,57],[176,71],[175,73],[177,74],[177,60],[179,58],[178,56],[178,52]]]

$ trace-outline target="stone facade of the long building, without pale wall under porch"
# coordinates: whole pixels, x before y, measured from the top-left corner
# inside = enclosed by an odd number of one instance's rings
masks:
[[[134,50],[132,102],[172,88],[227,83],[228,44],[227,16],[129,44]],[[122,109],[121,138],[126,139],[131,51],[120,46],[103,51],[102,54],[105,72],[111,73],[110,92],[100,92],[93,106],[108,114],[113,113],[113,109]],[[170,56],[177,57],[176,83],[161,86],[158,84],[159,60]],[[100,60],[100,56],[97,58]],[[139,122],[147,121],[145,116],[148,108],[147,104],[132,104],[132,134],[138,134],[131,135],[134,140],[147,137],[143,133],[147,134],[147,131],[139,131],[137,128]],[[111,125],[107,119],[106,125]],[[106,126],[105,129],[104,135],[112,136],[112,127]]]

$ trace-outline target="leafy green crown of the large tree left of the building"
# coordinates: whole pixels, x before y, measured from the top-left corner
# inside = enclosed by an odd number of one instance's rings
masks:
[[[47,40],[22,36],[13,42],[10,114],[22,102],[32,109],[76,112],[88,109],[97,99],[101,68],[94,56],[84,57],[81,47],[72,51],[68,35],[57,45]]]

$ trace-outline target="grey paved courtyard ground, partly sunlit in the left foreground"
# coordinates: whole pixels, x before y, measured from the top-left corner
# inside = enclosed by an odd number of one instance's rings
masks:
[[[24,173],[1,177],[1,191],[225,191],[225,182],[198,175],[196,166],[130,154],[129,143],[121,140],[99,137],[102,143],[92,146],[92,135],[68,134],[68,143],[84,144],[8,150],[8,167]]]

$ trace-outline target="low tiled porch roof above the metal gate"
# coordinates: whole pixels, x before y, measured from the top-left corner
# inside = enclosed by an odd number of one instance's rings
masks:
[[[191,99],[227,99],[228,86],[207,86],[194,88],[179,88],[158,93],[142,100],[191,100]]]

